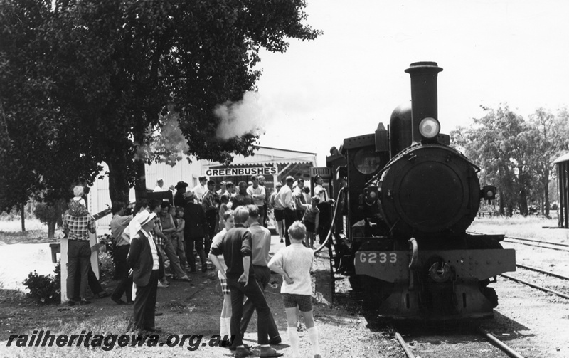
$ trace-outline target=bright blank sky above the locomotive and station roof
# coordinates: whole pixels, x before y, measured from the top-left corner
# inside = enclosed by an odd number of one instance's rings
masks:
[[[442,133],[482,117],[481,105],[523,117],[569,105],[567,1],[307,0],[305,10],[323,35],[260,53],[261,146],[314,152],[325,166],[344,138],[387,127],[418,61],[443,68]]]

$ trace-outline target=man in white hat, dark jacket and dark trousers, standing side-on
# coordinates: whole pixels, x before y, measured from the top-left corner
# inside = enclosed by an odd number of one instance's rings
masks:
[[[156,249],[151,231],[154,228],[156,214],[144,210],[134,216],[141,228],[130,242],[129,267],[132,268],[132,280],[137,285],[137,297],[134,299],[134,321],[139,330],[159,332],[154,324],[156,311],[156,291],[158,273],[162,256]]]

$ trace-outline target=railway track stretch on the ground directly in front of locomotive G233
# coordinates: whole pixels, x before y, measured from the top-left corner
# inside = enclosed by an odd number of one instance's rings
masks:
[[[462,325],[459,327],[448,327],[447,330],[450,332],[442,332],[443,338],[452,340],[453,338],[457,340],[456,350],[457,352],[452,352],[452,349],[447,346],[447,344],[442,344],[440,335],[433,335],[432,332],[427,334],[422,332],[406,333],[402,335],[398,327],[395,325],[391,326],[391,330],[395,339],[397,339],[400,347],[405,353],[405,357],[415,358],[415,357],[477,357],[477,352],[480,354],[479,357],[499,357],[497,350],[503,352],[505,356],[521,358],[523,357],[518,352],[511,349],[506,343],[502,342],[500,339],[491,335],[486,330],[482,328],[472,326],[472,322],[466,323],[467,327]],[[407,338],[407,339],[405,339]],[[493,347],[489,346],[492,344]],[[464,349],[464,346],[468,345],[468,349]],[[459,351],[463,351],[462,354]]]

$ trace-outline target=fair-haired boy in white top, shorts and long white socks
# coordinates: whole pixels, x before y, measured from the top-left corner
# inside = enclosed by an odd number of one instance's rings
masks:
[[[304,247],[302,241],[307,229],[300,221],[294,221],[289,228],[290,246],[281,248],[269,261],[269,268],[282,275],[280,288],[282,300],[287,312],[287,332],[292,346],[293,357],[300,357],[299,337],[297,333],[297,307],[304,316],[308,338],[312,345],[314,358],[321,358],[318,344],[318,330],[312,315],[312,284],[310,268],[314,260],[314,251]]]

